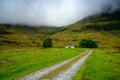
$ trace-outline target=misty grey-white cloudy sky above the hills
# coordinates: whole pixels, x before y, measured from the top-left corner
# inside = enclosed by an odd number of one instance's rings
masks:
[[[0,23],[65,26],[118,9],[120,0],[0,0]]]

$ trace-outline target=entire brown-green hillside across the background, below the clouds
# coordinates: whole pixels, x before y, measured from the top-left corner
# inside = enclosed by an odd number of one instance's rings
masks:
[[[51,37],[53,47],[79,47],[81,39],[92,39],[100,48],[120,48],[120,11],[87,17],[65,27],[0,25],[0,48],[40,47]]]

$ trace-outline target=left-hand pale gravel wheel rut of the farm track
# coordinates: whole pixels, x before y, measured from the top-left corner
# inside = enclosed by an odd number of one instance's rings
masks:
[[[83,54],[85,54],[87,51],[85,51]],[[66,61],[63,61],[61,63],[58,63],[58,64],[55,64],[55,65],[52,65],[50,67],[47,67],[47,68],[43,68],[41,70],[38,70],[36,72],[33,72],[33,73],[30,73],[28,75],[25,75],[23,77],[20,77],[20,78],[17,78],[17,79],[14,79],[14,80],[38,80],[40,79],[42,76],[52,72],[53,70],[57,69],[58,67],[74,60],[75,58],[81,56],[82,54],[78,55],[78,56],[75,56],[69,60],[66,60]],[[57,79],[58,80],[58,79]],[[60,79],[59,79],[60,80]]]

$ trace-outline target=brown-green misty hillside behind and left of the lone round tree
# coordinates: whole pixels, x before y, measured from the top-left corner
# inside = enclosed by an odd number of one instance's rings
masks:
[[[61,28],[1,24],[0,49],[11,47],[40,47],[44,38],[55,34],[59,30]]]

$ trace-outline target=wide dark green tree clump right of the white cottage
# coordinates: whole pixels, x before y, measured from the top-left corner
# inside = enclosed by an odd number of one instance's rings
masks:
[[[98,48],[97,43],[90,39],[81,39],[79,46],[82,48]]]

